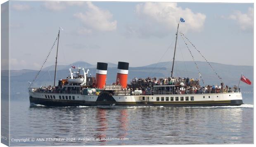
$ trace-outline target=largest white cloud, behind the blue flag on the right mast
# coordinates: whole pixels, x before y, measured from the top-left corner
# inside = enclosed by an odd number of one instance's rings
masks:
[[[137,33],[140,31],[141,35],[166,35],[168,31],[177,28],[180,17],[185,19],[181,27],[183,32],[188,30],[199,32],[204,28],[206,19],[205,14],[194,13],[188,8],[183,9],[174,2],[145,2],[136,5],[135,13],[144,20],[140,29],[133,28]]]

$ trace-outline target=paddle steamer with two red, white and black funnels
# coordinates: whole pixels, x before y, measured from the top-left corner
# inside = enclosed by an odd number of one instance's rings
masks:
[[[179,24],[178,24],[179,27]],[[59,30],[60,32],[60,30]],[[182,33],[180,33],[183,35]],[[178,28],[176,33],[176,42]],[[184,38],[183,38],[184,39]],[[57,35],[57,55],[59,33]],[[55,41],[56,41],[55,40]],[[175,42],[175,50],[176,50]],[[187,45],[187,44],[186,44]],[[174,50],[174,57],[175,57]],[[55,78],[57,69],[57,55],[55,63]],[[173,63],[174,58],[173,57]],[[139,82],[134,79],[128,81],[129,63],[118,62],[116,82],[106,85],[107,63],[97,63],[95,77],[89,77],[87,70],[78,68],[73,72],[70,68],[69,76],[60,79],[58,85],[33,88],[28,87],[31,104],[45,106],[172,106],[172,107],[198,107],[198,106],[226,106],[242,105],[242,94],[238,87],[228,88],[221,82],[220,86],[200,86],[199,81],[187,81],[171,77],[168,82],[147,81]],[[174,64],[173,64],[174,65]],[[41,67],[41,69],[43,66]],[[40,71],[38,72],[39,75]],[[199,75],[200,72],[199,72]],[[37,76],[36,76],[37,77]],[[176,79],[173,82],[173,79]],[[33,80],[34,81],[34,80]]]

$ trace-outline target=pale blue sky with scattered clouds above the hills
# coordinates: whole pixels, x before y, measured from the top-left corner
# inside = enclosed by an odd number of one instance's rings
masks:
[[[10,68],[39,70],[60,26],[60,65],[172,61],[178,23],[208,61],[253,65],[253,12],[250,3],[10,1]],[[55,64],[56,47],[45,67]],[[180,35],[176,49],[176,61],[192,61]]]

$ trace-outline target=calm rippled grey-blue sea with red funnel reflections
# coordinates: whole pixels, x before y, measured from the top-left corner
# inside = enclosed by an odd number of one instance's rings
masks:
[[[252,97],[227,107],[31,107],[11,101],[10,145],[250,144]]]

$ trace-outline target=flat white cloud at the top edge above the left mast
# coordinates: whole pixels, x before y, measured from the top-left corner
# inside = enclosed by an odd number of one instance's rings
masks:
[[[46,1],[44,7],[52,11],[61,11],[71,6],[83,6],[82,1]]]

